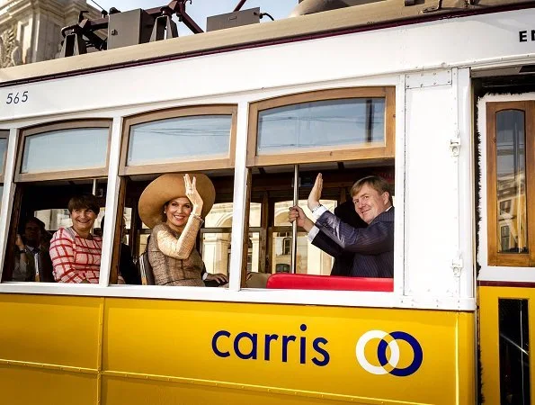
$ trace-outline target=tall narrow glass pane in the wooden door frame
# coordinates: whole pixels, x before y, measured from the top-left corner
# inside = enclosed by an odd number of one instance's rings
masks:
[[[528,251],[524,112],[496,113],[498,251]]]

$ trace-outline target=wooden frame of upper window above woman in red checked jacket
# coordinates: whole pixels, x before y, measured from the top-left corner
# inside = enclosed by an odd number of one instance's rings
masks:
[[[108,146],[106,150],[106,162],[103,167],[88,169],[62,170],[58,172],[40,172],[40,173],[21,173],[22,155],[24,153],[24,144],[27,137],[31,135],[44,134],[55,130],[77,130],[90,128],[108,128]],[[110,142],[111,142],[111,120],[93,119],[93,120],[76,120],[76,121],[57,121],[44,125],[36,125],[21,130],[19,140],[19,150],[17,152],[17,169],[14,175],[15,182],[36,182],[44,180],[62,180],[78,178],[96,178],[106,177],[108,175],[108,165],[110,162]]]

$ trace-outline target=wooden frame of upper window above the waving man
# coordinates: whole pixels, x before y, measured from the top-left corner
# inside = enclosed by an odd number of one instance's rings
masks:
[[[385,144],[384,146],[328,146],[310,148],[300,151],[293,149],[284,152],[257,155],[258,113],[276,107],[292,104],[310,103],[326,100],[348,98],[384,98],[385,99]],[[283,95],[249,106],[249,130],[247,139],[247,166],[271,166],[299,163],[318,163],[360,159],[386,159],[395,156],[396,145],[396,87],[350,87],[329,90],[317,90],[307,93]],[[289,162],[289,157],[291,162]]]

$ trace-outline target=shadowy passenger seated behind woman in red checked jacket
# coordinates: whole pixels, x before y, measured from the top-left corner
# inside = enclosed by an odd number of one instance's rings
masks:
[[[30,217],[24,221],[23,232],[15,239],[13,281],[53,281],[50,238],[42,220]]]

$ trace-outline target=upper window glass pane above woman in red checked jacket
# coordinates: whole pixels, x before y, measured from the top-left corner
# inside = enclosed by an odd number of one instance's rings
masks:
[[[108,128],[55,130],[24,139],[21,173],[106,166]]]

